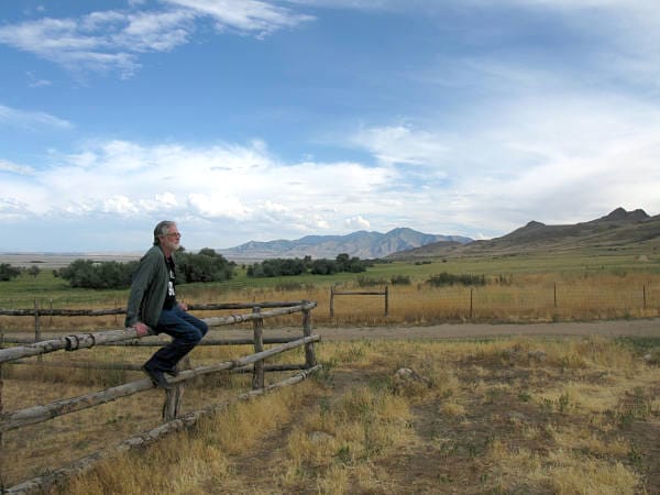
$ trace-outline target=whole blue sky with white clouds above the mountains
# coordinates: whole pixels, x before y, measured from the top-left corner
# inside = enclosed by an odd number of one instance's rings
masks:
[[[654,0],[0,2],[0,252],[660,212]]]

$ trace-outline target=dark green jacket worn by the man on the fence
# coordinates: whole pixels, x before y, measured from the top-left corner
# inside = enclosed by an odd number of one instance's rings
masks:
[[[168,282],[169,272],[165,253],[160,245],[154,245],[142,256],[138,270],[133,274],[125,327],[132,327],[138,321],[142,321],[152,330],[156,328],[167,295]]]

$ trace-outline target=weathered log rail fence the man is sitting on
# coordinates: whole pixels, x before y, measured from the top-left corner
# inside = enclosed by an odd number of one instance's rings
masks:
[[[194,367],[190,370],[180,371],[176,377],[168,381],[174,385],[172,389],[164,391],[165,403],[163,405],[163,424],[155,429],[139,433],[131,437],[114,448],[106,449],[87,455],[73,464],[52,470],[47,474],[37,476],[12,487],[6,488],[2,486],[2,493],[19,494],[41,491],[56,483],[64,476],[82,472],[89,469],[95,462],[107,459],[117,453],[127,451],[136,446],[144,446],[163,437],[172,431],[189,427],[205,415],[227,407],[230,402],[221,404],[212,404],[205,407],[202,410],[189,413],[180,416],[180,400],[183,397],[184,383],[190,380],[219,373],[222,371],[232,372],[251,372],[252,373],[252,391],[241,394],[237,399],[248,399],[267,391],[276,389],[283,386],[293,385],[305,380],[311,373],[318,371],[320,365],[316,362],[314,343],[320,341],[319,336],[311,333],[311,310],[316,307],[316,301],[288,301],[288,302],[239,302],[239,304],[217,304],[217,305],[189,305],[189,310],[233,310],[233,309],[252,309],[251,312],[230,315],[223,317],[209,317],[204,320],[212,327],[230,326],[241,322],[252,322],[253,337],[252,339],[206,339],[199,345],[238,345],[253,344],[254,354],[245,355],[240,359],[234,359],[224,362],[218,362],[210,365]],[[111,310],[67,310],[67,309],[51,309],[48,315],[53,316],[103,316],[125,312],[123,309]],[[302,336],[301,337],[280,337],[280,338],[264,338],[263,321],[267,318],[277,316],[292,315],[296,312],[302,314]],[[19,345],[0,349],[0,371],[3,363],[25,364],[30,362],[30,358],[42,356],[46,353],[57,351],[77,351],[80,349],[90,349],[98,345],[164,345],[168,341],[147,341],[140,340],[134,328],[109,330],[90,333],[79,333],[72,336],[61,336],[47,340],[41,340],[38,318],[43,316],[35,306],[34,309],[0,309],[0,315],[3,316],[31,316],[35,318],[35,339],[10,338],[3,337],[4,343],[18,343]],[[209,337],[209,336],[207,336]],[[274,344],[270,349],[264,349],[264,344]],[[264,365],[264,360],[283,352],[304,346],[305,363],[304,364],[284,364],[284,365]],[[41,363],[43,365],[43,363]],[[66,365],[66,363],[56,363],[55,365]],[[81,364],[78,363],[78,366]],[[107,367],[106,365],[95,366],[95,363],[84,363],[87,367]],[[112,364],[110,363],[110,366]],[[139,370],[140,365],[123,365],[122,369]],[[265,386],[264,375],[268,371],[298,371],[295,375],[282,382]],[[35,425],[47,421],[53,418],[80,411],[87,408],[96,407],[117,400],[121,397],[127,397],[133,394],[153,389],[154,385],[147,377],[134,382],[124,383],[119,386],[113,386],[91,394],[85,394],[78,397],[65,398],[52,402],[50,404],[28,407],[20,410],[3,411],[2,410],[2,375],[0,374],[0,444],[2,442],[2,433],[15,429],[23,428],[28,425]],[[0,458],[0,475],[4,466],[3,459],[7,452],[2,451]],[[3,479],[3,476],[2,476]]]

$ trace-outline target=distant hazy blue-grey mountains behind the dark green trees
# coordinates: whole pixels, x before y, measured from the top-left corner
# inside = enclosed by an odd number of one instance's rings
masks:
[[[437,235],[399,228],[387,233],[361,230],[346,235],[307,235],[287,241],[250,241],[235,248],[216,250],[229,260],[266,260],[273,257],[330,258],[345,253],[363,260],[386,257],[393,253],[420,248],[429,243],[450,242],[465,244],[470,238],[460,235]]]

